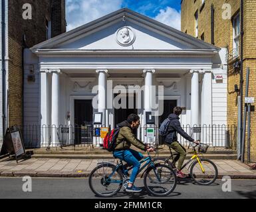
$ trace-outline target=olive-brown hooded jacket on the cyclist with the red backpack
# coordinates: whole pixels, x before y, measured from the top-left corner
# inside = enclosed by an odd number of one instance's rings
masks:
[[[116,138],[116,148],[114,150],[128,150],[131,144],[134,144],[137,148],[146,151],[146,145],[135,137],[128,121],[119,123],[118,127],[121,129]]]

